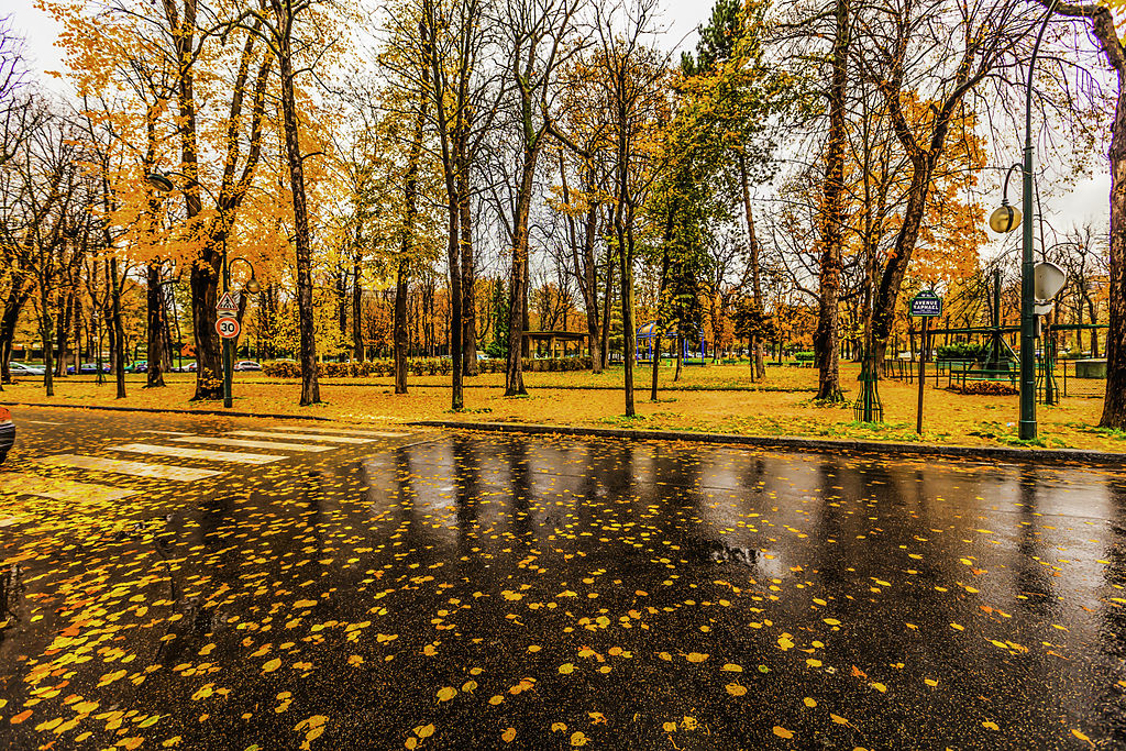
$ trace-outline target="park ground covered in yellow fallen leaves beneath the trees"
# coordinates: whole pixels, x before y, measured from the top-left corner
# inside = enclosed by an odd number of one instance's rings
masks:
[[[918,384],[879,382],[885,422],[866,424],[854,418],[858,366],[841,366],[847,401],[837,405],[814,402],[816,370],[770,367],[767,379],[754,383],[747,365],[686,366],[673,383],[671,366],[660,370],[658,401],[649,399],[651,368],[635,372],[637,415],[626,418],[620,391],[623,369],[602,374],[527,373],[528,395],[503,396],[503,376],[489,374],[466,378],[465,409],[449,408],[448,376],[421,376],[409,381],[410,393],[395,395],[387,378],[321,382],[324,403],[297,405],[297,381],[280,381],[260,374],[236,374],[234,410],[270,414],[315,414],[341,420],[378,423],[411,420],[464,420],[471,422],[527,422],[560,426],[689,430],[745,436],[801,436],[865,440],[915,441],[959,446],[1021,446],[1017,438],[1016,396],[955,394],[928,383],[923,433],[915,433]],[[46,397],[42,383],[21,379],[6,386],[0,401],[60,405],[124,405],[157,409],[213,410],[216,402],[190,401],[195,376],[169,374],[164,388],[145,390],[144,376],[128,376],[128,399],[114,399],[111,382],[97,385],[90,377],[56,379],[55,396]],[[940,381],[946,385],[946,378]],[[1097,428],[1102,410],[1102,382],[1069,381],[1069,396],[1058,405],[1037,405],[1039,437],[1029,445],[1049,448],[1126,450],[1126,433]],[[727,388],[732,391],[715,391]]]

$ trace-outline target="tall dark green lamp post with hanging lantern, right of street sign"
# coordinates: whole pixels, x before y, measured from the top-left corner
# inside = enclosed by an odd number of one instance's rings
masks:
[[[1009,175],[1020,168],[1021,213],[1009,206],[1008,196],[1002,195],[1001,207],[990,216],[990,227],[994,232],[1011,232],[1016,222],[1021,223],[1022,236],[1020,244],[1020,423],[1018,435],[1021,440],[1036,438],[1036,311],[1034,298],[1035,260],[1033,259],[1033,72],[1036,70],[1036,56],[1040,51],[1044,32],[1048,27],[1056,0],[1052,0],[1040,21],[1033,45],[1033,55],[1028,61],[1028,81],[1025,87],[1025,160],[1024,164],[1013,164],[1004,178],[1004,191],[1008,193]]]

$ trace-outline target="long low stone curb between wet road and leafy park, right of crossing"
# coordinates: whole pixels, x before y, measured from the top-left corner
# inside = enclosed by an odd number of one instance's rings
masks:
[[[573,426],[522,424],[512,422],[459,422],[455,420],[415,420],[406,424],[430,428],[454,428],[488,432],[516,432],[529,435],[558,433],[564,436],[595,436],[632,440],[687,440],[700,444],[735,444],[759,448],[798,449],[816,453],[882,453],[902,456],[951,456],[965,459],[1003,459],[1008,462],[1079,464],[1126,464],[1126,453],[1094,452],[1080,448],[1011,448],[1008,446],[941,446],[938,444],[901,444],[875,440],[831,440],[797,438],[792,436],[739,436],[716,432],[679,432],[676,430],[634,430],[623,428],[580,428]]]

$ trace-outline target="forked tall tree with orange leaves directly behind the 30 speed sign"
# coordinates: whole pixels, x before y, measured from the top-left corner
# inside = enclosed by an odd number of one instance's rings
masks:
[[[240,28],[239,8],[200,6],[200,0],[110,0],[97,15],[71,12],[65,2],[46,5],[63,24],[61,41],[80,90],[92,99],[114,99],[122,87],[111,73],[122,66],[135,68],[129,65],[129,59],[143,62],[145,70],[167,71],[170,77],[168,88],[175,109],[171,128],[179,150],[172,177],[184,198],[182,221],[175,232],[184,244],[184,266],[190,269],[198,361],[193,399],[221,399],[215,303],[223,252],[261,155],[266,90],[274,61],[271,55],[262,54],[261,27],[248,23]],[[135,104],[135,119],[144,122],[153,102]],[[97,118],[102,117],[99,114]],[[143,136],[138,141],[143,143]],[[138,143],[117,145],[143,151]],[[200,154],[215,154],[217,169],[202,161]],[[160,164],[154,167],[163,171]],[[114,181],[123,181],[111,185],[117,211],[136,215],[138,205],[151,203],[151,195],[131,191],[124,185],[143,186],[142,169],[137,164],[132,173],[114,177]],[[135,224],[125,218],[114,222],[119,226]]]

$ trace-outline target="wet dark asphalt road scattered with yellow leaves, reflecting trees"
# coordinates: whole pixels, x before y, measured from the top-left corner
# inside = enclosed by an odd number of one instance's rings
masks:
[[[263,422],[17,421],[0,490],[137,493],[0,495],[5,748],[1126,746],[1123,474],[412,432],[170,482],[35,461]]]

